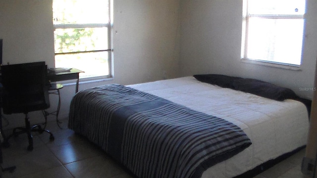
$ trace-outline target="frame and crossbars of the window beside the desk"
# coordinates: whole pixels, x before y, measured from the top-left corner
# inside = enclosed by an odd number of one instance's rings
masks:
[[[113,77],[113,0],[106,0],[109,4],[109,11],[108,11],[108,17],[109,20],[107,23],[84,23],[84,24],[54,24],[53,23],[53,31],[55,32],[56,29],[84,29],[84,28],[104,28],[106,27],[108,29],[107,33],[107,43],[108,48],[102,49],[102,50],[87,50],[87,51],[74,51],[74,52],[54,52],[54,63],[55,63],[55,56],[56,55],[67,55],[67,54],[80,54],[80,53],[91,53],[91,52],[107,52],[108,53],[108,75],[104,76],[93,76],[93,77],[85,77],[81,78],[79,75],[79,78],[83,81],[91,81],[91,80],[103,80],[103,79],[109,79]],[[55,45],[55,39],[54,39],[54,45]]]

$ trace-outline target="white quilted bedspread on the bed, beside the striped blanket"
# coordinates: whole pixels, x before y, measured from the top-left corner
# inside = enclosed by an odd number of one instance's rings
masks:
[[[204,172],[203,178],[232,178],[307,141],[309,120],[305,105],[275,101],[254,94],[199,82],[194,77],[128,86],[225,119],[239,126],[252,145]]]

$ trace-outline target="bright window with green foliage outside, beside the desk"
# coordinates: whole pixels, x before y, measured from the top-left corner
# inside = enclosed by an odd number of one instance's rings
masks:
[[[111,10],[110,0],[53,0],[55,67],[111,76]]]

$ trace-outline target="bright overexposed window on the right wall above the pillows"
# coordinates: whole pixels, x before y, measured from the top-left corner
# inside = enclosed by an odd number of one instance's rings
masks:
[[[244,59],[300,66],[305,0],[243,0]]]

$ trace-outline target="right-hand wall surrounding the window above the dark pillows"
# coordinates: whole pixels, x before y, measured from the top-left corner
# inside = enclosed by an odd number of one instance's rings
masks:
[[[271,82],[293,89],[305,98],[314,87],[317,58],[317,1],[308,0],[306,36],[301,71],[240,61],[242,0],[181,0],[181,52],[183,76],[225,74]]]

